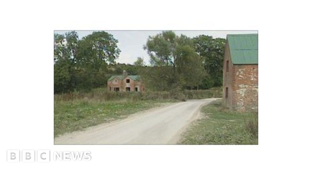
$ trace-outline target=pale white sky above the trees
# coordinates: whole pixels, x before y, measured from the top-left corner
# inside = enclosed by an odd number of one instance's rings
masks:
[[[54,31],[58,34],[65,34],[68,31]],[[79,38],[91,34],[93,31],[76,31]],[[133,64],[137,57],[142,57],[146,64],[149,64],[149,55],[143,49],[143,45],[149,36],[156,35],[162,31],[106,31],[118,40],[118,48],[121,50],[117,63]],[[258,33],[258,31],[174,31],[177,35],[194,37],[198,35],[209,35],[213,38],[226,38],[227,34]]]

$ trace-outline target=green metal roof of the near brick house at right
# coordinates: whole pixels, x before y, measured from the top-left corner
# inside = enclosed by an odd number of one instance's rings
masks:
[[[233,64],[258,64],[258,34],[227,35]]]

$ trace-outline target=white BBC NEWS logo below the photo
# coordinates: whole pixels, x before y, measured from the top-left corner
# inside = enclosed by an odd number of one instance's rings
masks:
[[[7,162],[50,162],[50,150],[22,150],[20,156],[20,150],[7,150]],[[37,159],[36,159],[37,158]],[[35,160],[36,159],[36,160]],[[90,161],[91,152],[90,151],[54,151],[53,152],[54,161]]]

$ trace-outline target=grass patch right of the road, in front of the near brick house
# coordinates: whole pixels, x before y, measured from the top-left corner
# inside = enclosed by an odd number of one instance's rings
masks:
[[[205,116],[193,123],[179,144],[258,144],[258,113],[235,112],[214,101],[202,108]]]

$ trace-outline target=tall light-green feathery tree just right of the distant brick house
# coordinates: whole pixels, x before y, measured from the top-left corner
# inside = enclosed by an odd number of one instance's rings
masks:
[[[183,86],[197,87],[203,78],[204,69],[201,64],[201,58],[193,49],[193,43],[185,35],[177,36],[173,31],[163,31],[162,33],[149,36],[149,39],[143,47],[150,56],[150,63],[156,67],[166,67],[163,69],[156,68],[155,76],[162,77],[159,81],[151,81],[162,84],[169,88]],[[172,71],[168,71],[172,69]],[[164,71],[165,70],[165,71]],[[153,77],[155,80],[155,76]],[[165,89],[165,88],[161,88]]]

